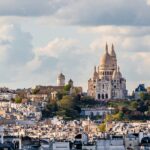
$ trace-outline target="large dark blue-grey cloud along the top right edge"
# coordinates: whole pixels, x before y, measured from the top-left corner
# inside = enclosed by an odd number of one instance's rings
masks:
[[[82,0],[57,11],[56,17],[79,25],[149,25],[146,0]]]

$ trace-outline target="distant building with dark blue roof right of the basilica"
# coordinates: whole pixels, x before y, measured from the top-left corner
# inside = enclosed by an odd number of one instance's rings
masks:
[[[144,84],[139,84],[138,87],[135,89],[134,98],[140,99],[142,93],[147,93],[147,89],[145,88]]]

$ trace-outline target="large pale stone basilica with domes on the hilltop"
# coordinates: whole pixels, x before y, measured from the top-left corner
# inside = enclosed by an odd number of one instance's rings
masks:
[[[88,95],[96,100],[125,99],[126,80],[122,77],[112,44],[110,53],[106,44],[100,65],[94,67],[93,77],[88,80]]]

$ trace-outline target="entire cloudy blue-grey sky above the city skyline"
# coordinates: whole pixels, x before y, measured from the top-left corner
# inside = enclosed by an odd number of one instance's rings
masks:
[[[132,92],[150,86],[150,0],[0,1],[0,86],[66,81],[87,90],[106,42]]]

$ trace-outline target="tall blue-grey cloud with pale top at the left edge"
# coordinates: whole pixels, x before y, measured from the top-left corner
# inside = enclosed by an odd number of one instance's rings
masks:
[[[0,47],[3,62],[9,65],[26,63],[33,57],[32,36],[23,32],[18,25],[4,24],[0,29]]]

